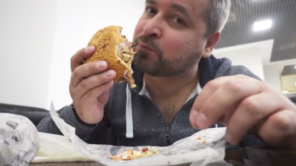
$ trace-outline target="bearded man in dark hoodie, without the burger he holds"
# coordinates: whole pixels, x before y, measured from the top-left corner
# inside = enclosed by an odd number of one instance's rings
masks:
[[[116,145],[167,146],[225,125],[237,145],[228,149],[295,148],[296,106],[245,67],[211,55],[229,10],[229,0],[146,0],[133,37],[137,87],[113,83],[106,62],[83,64],[94,48],[81,49],[71,59],[74,104],[59,116],[96,144],[110,127]],[[60,134],[50,116],[37,128]]]

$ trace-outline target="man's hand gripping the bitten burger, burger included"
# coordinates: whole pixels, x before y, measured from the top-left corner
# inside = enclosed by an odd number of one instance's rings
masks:
[[[121,30],[119,26],[99,30],[92,36],[89,47],[71,58],[69,90],[74,112],[85,123],[97,124],[102,120],[114,82],[127,81],[130,87],[135,87],[131,70],[135,52]]]

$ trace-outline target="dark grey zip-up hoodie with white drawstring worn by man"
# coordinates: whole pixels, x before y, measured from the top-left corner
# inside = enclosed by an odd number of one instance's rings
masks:
[[[177,140],[199,132],[189,122],[189,113],[196,96],[188,100],[178,114],[167,126],[164,117],[153,100],[139,92],[143,86],[144,74],[133,67],[133,78],[137,85],[130,89],[127,83],[114,83],[110,98],[104,107],[103,120],[96,124],[84,123],[76,114],[72,105],[65,106],[58,111],[66,123],[76,128],[76,135],[88,143],[102,144],[101,137],[111,128],[114,143],[118,146],[168,146]],[[199,63],[200,86],[218,77],[243,74],[259,79],[244,66],[231,66],[227,58],[216,59],[213,55],[202,58]],[[215,101],[213,101],[215,102]],[[213,126],[215,127],[215,126]],[[224,127],[222,124],[216,127]],[[51,116],[45,117],[37,126],[39,132],[62,134],[56,127]],[[110,139],[110,136],[107,138]],[[108,141],[107,141],[108,143]],[[109,144],[109,143],[108,143]],[[243,147],[264,147],[264,142],[256,135],[245,135],[238,146],[227,144],[226,149]]]

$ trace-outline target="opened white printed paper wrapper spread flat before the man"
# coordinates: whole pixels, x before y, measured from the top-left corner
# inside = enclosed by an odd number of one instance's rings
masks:
[[[154,147],[159,154],[146,156],[129,161],[111,160],[111,155],[116,155],[128,149],[138,150],[142,147],[123,147],[111,145],[87,144],[75,135],[75,128],[61,119],[52,103],[50,114],[56,126],[64,134],[66,139],[81,154],[93,161],[111,166],[169,166],[192,163],[191,166],[206,166],[210,163],[221,162],[225,154],[226,128],[211,128],[202,130],[187,138],[176,141],[168,147]]]

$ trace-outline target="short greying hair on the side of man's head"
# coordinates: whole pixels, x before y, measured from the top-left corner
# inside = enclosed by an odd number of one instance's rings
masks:
[[[216,31],[222,31],[227,22],[231,7],[231,0],[210,0],[209,3],[205,11],[205,21],[207,24],[205,36]]]

